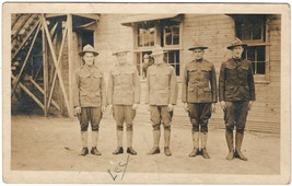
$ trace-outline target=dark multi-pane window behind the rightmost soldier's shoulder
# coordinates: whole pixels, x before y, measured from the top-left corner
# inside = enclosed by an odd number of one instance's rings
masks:
[[[267,73],[266,58],[266,16],[265,15],[236,15],[236,36],[248,46],[243,58],[253,65],[255,75]]]

